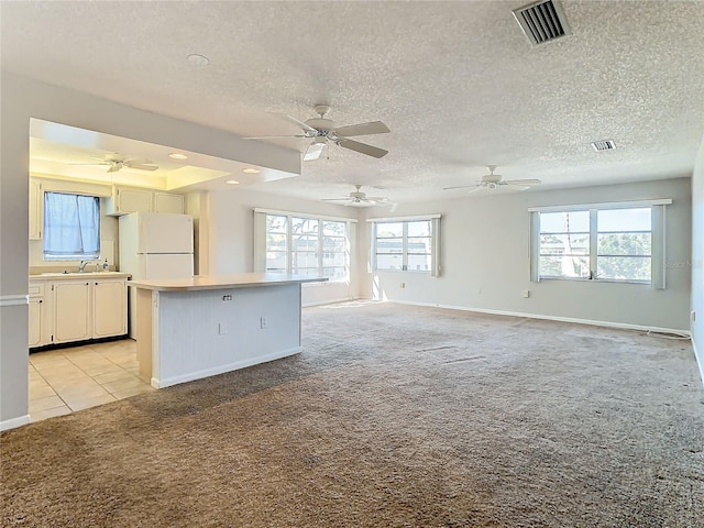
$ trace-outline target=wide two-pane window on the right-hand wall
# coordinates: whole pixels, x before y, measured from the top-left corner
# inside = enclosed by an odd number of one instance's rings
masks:
[[[664,204],[534,210],[534,280],[585,278],[664,287]],[[534,242],[535,243],[535,242]]]

